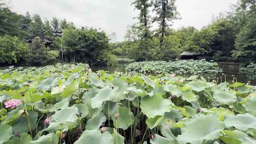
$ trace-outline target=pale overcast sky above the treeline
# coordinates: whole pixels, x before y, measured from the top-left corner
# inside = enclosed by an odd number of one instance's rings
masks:
[[[122,41],[128,25],[137,11],[133,0],[11,0],[11,7],[19,14],[27,11],[39,14],[43,19],[66,18],[77,27],[101,28],[108,34],[116,32]],[[200,29],[209,24],[212,16],[229,10],[238,0],[176,0],[181,20],[174,21],[174,28],[193,26]]]

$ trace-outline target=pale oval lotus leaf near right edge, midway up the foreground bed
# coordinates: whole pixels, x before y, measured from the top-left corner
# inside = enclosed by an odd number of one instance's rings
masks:
[[[231,91],[216,91],[213,93],[213,98],[219,101],[220,104],[232,105],[237,102],[237,96]]]

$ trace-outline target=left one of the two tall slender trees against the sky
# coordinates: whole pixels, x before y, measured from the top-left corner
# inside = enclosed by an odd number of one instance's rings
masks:
[[[149,37],[149,28],[150,28],[150,7],[152,7],[152,1],[151,0],[135,0],[132,3],[137,10],[139,10],[138,20],[140,25],[143,27],[144,36],[143,37]]]

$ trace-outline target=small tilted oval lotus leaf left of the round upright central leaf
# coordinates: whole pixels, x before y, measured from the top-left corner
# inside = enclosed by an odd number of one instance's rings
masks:
[[[99,111],[87,121],[87,125],[85,128],[89,130],[99,129],[103,122],[106,121],[106,119],[107,118],[103,115],[103,113]]]

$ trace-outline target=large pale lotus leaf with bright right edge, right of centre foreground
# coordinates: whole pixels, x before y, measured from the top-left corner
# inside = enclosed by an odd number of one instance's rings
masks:
[[[173,103],[160,95],[144,97],[140,102],[141,111],[149,118],[163,116],[165,112],[170,112],[173,109]]]

